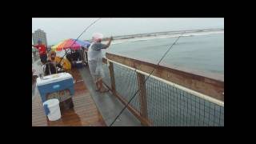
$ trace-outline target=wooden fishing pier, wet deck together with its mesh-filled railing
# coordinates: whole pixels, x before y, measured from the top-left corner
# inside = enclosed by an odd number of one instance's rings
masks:
[[[224,126],[223,77],[110,53],[102,62],[109,92],[94,90],[88,66],[74,68],[74,107],[50,122],[34,94],[32,126]]]

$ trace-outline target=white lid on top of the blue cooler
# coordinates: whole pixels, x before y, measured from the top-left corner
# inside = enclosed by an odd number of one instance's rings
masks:
[[[37,86],[47,85],[53,82],[60,82],[66,79],[73,78],[69,73],[51,74],[41,78],[37,78]]]

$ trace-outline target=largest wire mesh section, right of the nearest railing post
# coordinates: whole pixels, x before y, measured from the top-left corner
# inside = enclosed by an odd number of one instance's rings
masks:
[[[149,118],[154,126],[224,126],[224,107],[149,78]]]

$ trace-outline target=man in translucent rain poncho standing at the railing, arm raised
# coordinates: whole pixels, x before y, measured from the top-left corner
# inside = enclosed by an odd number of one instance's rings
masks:
[[[110,46],[113,38],[111,37],[109,42],[105,45],[102,44],[103,34],[93,34],[92,43],[88,50],[88,64],[90,74],[94,78],[96,84],[96,91],[106,92],[106,88],[103,86],[102,78],[104,77],[104,71],[102,68],[102,49],[106,49]]]

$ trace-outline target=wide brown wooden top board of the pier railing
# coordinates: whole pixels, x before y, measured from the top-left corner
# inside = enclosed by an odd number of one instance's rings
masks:
[[[206,94],[211,98],[224,101],[224,81],[222,80],[208,78],[199,74],[191,74],[190,72],[178,70],[177,68],[158,66],[150,62],[143,62],[116,54],[106,53],[106,58],[148,74],[155,69],[152,75],[158,78],[165,79],[168,82],[174,82],[180,86],[189,88],[190,90]]]

